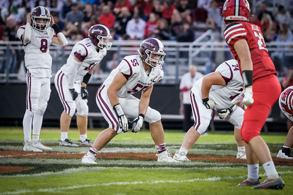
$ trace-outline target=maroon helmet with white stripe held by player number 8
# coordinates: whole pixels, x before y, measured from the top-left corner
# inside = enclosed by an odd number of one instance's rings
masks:
[[[50,27],[51,15],[50,15],[49,10],[47,8],[43,7],[43,6],[36,7],[32,11],[30,18],[32,19],[32,21],[31,21],[32,27],[37,29],[37,30],[46,31]],[[36,20],[38,18],[46,19],[46,23],[44,23],[44,24],[43,23],[37,23]],[[44,25],[44,26],[41,27],[41,25]]]

